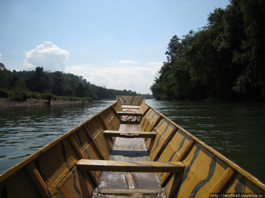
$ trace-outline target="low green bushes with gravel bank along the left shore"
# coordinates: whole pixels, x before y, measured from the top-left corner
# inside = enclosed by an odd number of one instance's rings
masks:
[[[0,90],[0,106],[31,105],[31,104],[58,104],[92,101],[92,98],[56,96],[53,94],[41,94],[39,92],[14,90],[5,92]]]

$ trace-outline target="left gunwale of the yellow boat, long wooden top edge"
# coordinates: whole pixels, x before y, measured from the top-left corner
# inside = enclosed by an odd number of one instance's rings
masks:
[[[81,127],[83,127],[86,123],[88,123],[89,121],[91,121],[95,117],[99,116],[100,114],[102,114],[106,110],[110,109],[111,107],[115,106],[116,104],[117,104],[117,101],[115,103],[113,103],[112,105],[106,107],[105,109],[103,109],[99,113],[95,114],[94,116],[90,117],[86,121],[80,123],[78,126],[72,128],[70,131],[64,133],[62,136],[59,136],[58,138],[56,138],[52,142],[46,144],[45,146],[43,146],[39,150],[37,150],[34,153],[32,153],[31,155],[29,155],[27,158],[25,158],[25,159],[21,160],[20,162],[16,163],[14,166],[10,167],[9,169],[5,170],[4,172],[1,172],[0,173],[0,183],[3,182],[4,180],[6,180],[11,175],[13,175],[14,173],[16,173],[17,171],[19,171],[20,169],[22,169],[23,167],[25,167],[30,162],[32,162],[32,160],[36,159],[37,157],[39,157],[40,155],[45,153],[47,150],[49,150],[54,145],[56,145],[57,143],[62,141],[64,138],[67,138],[69,135],[71,135],[72,133],[74,133],[75,131],[77,131]]]

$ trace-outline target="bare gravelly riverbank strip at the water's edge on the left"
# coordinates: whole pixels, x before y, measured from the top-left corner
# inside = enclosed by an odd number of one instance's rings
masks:
[[[0,106],[16,106],[16,105],[34,105],[34,104],[48,104],[48,100],[44,99],[36,99],[36,98],[30,98],[26,101],[17,101],[11,98],[0,98]],[[77,103],[77,102],[83,102],[81,100],[76,101],[70,101],[70,100],[51,100],[52,104],[60,104],[60,103]],[[88,101],[85,101],[88,102]]]

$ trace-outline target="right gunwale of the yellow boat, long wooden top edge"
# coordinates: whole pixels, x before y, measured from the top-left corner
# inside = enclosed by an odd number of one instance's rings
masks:
[[[241,168],[240,166],[238,166],[236,163],[234,163],[233,161],[229,160],[228,158],[226,158],[224,155],[222,155],[221,153],[219,153],[217,150],[213,149],[212,147],[210,147],[209,145],[207,145],[206,143],[204,143],[203,141],[199,140],[198,138],[196,138],[195,136],[193,136],[191,133],[189,133],[188,131],[186,131],[184,128],[180,127],[179,125],[177,125],[175,122],[173,122],[172,120],[168,119],[166,116],[164,116],[163,114],[161,114],[159,111],[155,110],[154,108],[152,108],[151,106],[149,106],[148,104],[144,103],[145,105],[147,105],[148,107],[150,107],[153,111],[155,111],[156,113],[158,113],[159,115],[161,115],[164,119],[166,119],[167,121],[169,121],[170,123],[172,123],[176,128],[180,129],[183,133],[185,133],[187,136],[189,136],[190,138],[192,138],[194,141],[196,141],[198,144],[200,144],[201,146],[203,146],[204,148],[206,148],[207,150],[209,150],[211,153],[213,153],[214,155],[216,155],[216,157],[220,158],[221,160],[223,160],[225,163],[227,163],[230,167],[234,168],[239,174],[243,175],[244,177],[246,177],[246,179],[248,179],[249,181],[251,181],[254,185],[258,186],[259,188],[261,188],[262,190],[265,191],[265,184],[263,182],[261,182],[258,178],[254,177],[253,175],[251,175],[249,172],[247,172],[246,170],[244,170],[243,168]],[[195,144],[195,143],[194,143]],[[194,145],[193,144],[193,145]]]

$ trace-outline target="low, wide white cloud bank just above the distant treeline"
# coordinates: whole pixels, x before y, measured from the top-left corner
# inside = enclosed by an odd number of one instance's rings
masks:
[[[154,64],[155,65],[155,64]],[[105,85],[107,89],[132,90],[137,93],[150,93],[150,86],[153,84],[155,72],[160,66],[146,65],[126,67],[93,68],[89,65],[78,65],[67,67],[65,72],[74,75],[82,75],[87,82],[98,86]]]

